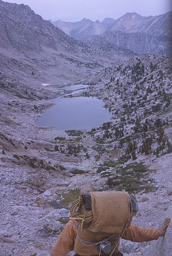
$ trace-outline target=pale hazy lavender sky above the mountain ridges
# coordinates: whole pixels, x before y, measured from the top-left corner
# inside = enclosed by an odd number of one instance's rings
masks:
[[[76,22],[83,18],[92,21],[115,20],[127,12],[142,16],[160,15],[172,10],[172,0],[8,0],[9,3],[24,3],[45,20]]]

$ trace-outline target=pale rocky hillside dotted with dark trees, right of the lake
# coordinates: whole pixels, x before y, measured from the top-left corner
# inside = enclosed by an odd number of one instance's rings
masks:
[[[125,149],[125,159],[170,153],[170,79],[170,59],[156,55],[141,55],[93,76],[84,95],[103,99],[113,119],[102,130],[92,129],[92,136],[109,141],[109,148]]]

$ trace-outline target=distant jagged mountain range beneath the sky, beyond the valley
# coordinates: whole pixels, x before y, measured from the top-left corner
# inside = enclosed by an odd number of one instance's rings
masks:
[[[84,18],[80,22],[52,22],[67,35],[82,41],[113,43],[138,54],[153,53],[171,56],[172,12],[143,17],[138,13],[126,13],[114,20],[105,18],[92,22]],[[50,21],[51,22],[51,21]]]

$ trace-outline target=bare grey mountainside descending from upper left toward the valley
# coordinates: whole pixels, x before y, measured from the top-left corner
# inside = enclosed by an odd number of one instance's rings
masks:
[[[131,50],[110,42],[104,45],[103,41],[92,44],[76,40],[43,20],[28,5],[0,0],[0,16],[1,65],[4,58],[7,58],[5,62],[10,63],[13,58],[17,63],[15,67],[11,65],[8,76],[18,69],[23,72],[21,69],[26,66],[25,81],[27,77],[29,81],[35,78],[42,81],[45,77],[56,83],[71,78],[74,81],[78,76],[90,75],[114,62],[120,64],[135,56]]]

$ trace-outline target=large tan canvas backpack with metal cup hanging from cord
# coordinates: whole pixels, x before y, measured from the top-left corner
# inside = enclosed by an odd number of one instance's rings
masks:
[[[123,191],[89,194],[91,209],[84,207],[81,196],[78,198],[79,204],[75,201],[71,206],[71,218],[78,223],[75,251],[81,256],[115,254],[120,236],[131,224],[130,197]]]

